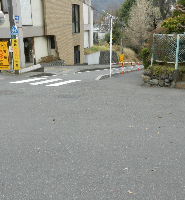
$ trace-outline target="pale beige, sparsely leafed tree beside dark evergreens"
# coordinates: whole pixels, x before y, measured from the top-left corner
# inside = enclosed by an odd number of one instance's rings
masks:
[[[126,29],[126,36],[131,47],[141,51],[150,32],[154,29],[155,15],[156,10],[149,0],[137,0],[132,6]]]

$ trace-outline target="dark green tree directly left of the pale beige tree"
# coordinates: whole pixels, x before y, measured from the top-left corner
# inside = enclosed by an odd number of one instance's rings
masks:
[[[136,2],[136,0],[126,0],[121,6],[119,10],[119,20],[124,21],[125,25],[128,25],[129,13],[132,8],[132,5]]]

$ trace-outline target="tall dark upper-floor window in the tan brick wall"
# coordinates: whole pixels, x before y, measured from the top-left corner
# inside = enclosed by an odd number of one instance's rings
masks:
[[[73,33],[80,32],[80,6],[73,4],[72,6],[72,31]]]

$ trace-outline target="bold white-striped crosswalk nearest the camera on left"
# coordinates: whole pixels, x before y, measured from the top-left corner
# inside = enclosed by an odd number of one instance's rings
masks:
[[[21,81],[10,82],[11,84],[29,84],[29,85],[45,85],[46,87],[58,87],[70,83],[79,82],[81,80],[68,80],[63,81],[60,78],[48,79],[48,77],[29,78]]]

